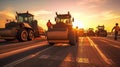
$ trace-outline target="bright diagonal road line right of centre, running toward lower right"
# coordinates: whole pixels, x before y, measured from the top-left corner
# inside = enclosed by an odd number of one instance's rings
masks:
[[[103,60],[107,63],[107,64],[110,64],[112,65],[112,60],[108,59],[103,53],[102,51],[97,47],[97,45],[89,38],[87,37],[91,46],[94,46],[97,50],[97,52],[100,54],[100,56],[103,58]]]

